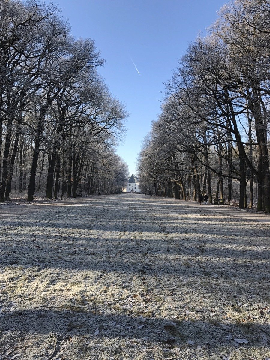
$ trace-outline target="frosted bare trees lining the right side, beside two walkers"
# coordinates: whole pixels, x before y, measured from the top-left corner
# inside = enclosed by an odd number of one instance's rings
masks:
[[[239,182],[239,207],[270,212],[270,1],[225,5],[208,36],[198,37],[166,83],[162,112],[139,158],[141,187],[157,194],[207,192],[228,203]],[[267,138],[268,136],[268,138]],[[192,190],[191,190],[192,189]]]

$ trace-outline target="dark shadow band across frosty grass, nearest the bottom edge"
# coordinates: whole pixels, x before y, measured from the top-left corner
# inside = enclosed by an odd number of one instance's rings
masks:
[[[21,310],[0,315],[0,329],[5,332],[16,330],[22,334],[64,333],[89,335],[98,338],[148,339],[161,343],[208,344],[210,347],[237,346],[234,338],[247,339],[244,346],[267,346],[270,344],[269,325],[253,323],[219,323],[214,319],[189,321],[166,318],[146,318],[122,314],[97,315],[99,308],[93,306],[91,312],[77,307],[76,311],[63,310]]]

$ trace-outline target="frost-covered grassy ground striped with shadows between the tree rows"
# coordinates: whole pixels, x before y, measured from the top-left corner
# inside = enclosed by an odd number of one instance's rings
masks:
[[[269,226],[204,209],[113,195],[1,220],[0,359],[270,357]]]

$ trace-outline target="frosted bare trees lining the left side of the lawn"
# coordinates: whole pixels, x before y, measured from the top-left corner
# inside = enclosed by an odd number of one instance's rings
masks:
[[[115,147],[125,106],[99,76],[91,39],[75,40],[53,4],[0,1],[0,201],[78,189],[114,192],[127,177]]]

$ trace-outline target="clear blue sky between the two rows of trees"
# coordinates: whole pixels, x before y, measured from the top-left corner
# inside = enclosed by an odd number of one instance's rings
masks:
[[[48,0],[49,2],[49,0]],[[95,40],[106,63],[99,73],[130,113],[118,154],[136,174],[144,136],[160,111],[163,83],[188,43],[217,19],[225,0],[53,0],[75,37]],[[136,71],[132,60],[140,75]]]

